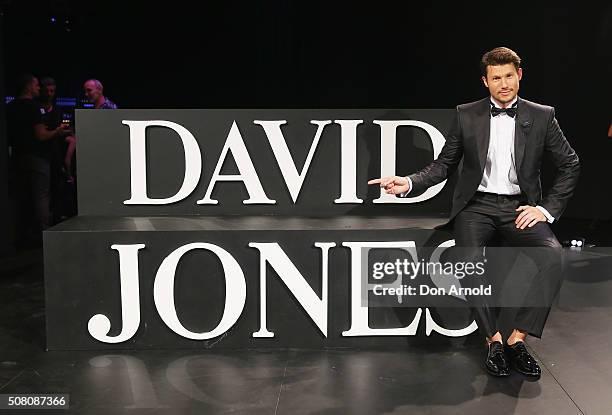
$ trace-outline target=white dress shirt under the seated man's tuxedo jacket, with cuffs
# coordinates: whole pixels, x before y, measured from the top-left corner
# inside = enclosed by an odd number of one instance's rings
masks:
[[[517,100],[518,97],[515,97],[507,107],[514,105]],[[491,98],[491,103],[497,108],[501,108],[493,98]],[[514,158],[515,119],[506,113],[502,113],[496,117],[491,115],[490,122],[489,149],[478,191],[499,195],[520,194],[521,188],[518,183]],[[408,180],[409,190],[402,193],[400,195],[402,197],[412,190],[412,181],[407,176],[406,179]],[[536,207],[546,216],[549,223],[555,220],[544,207]]]

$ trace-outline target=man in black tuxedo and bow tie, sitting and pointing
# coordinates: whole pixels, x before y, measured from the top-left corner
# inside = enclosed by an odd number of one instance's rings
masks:
[[[420,193],[448,178],[463,160],[450,215],[456,246],[467,249],[463,252],[471,255],[469,260],[476,259],[475,252],[482,252],[496,237],[511,246],[530,247],[526,253],[538,266],[536,280],[553,281],[548,291],[554,296],[558,291],[555,274],[560,280],[561,245],[549,223],[559,220],[573,194],[580,171],[578,156],[552,107],[518,97],[523,71],[514,51],[500,47],[485,53],[481,70],[490,96],[457,106],[438,158],[407,177],[382,177],[368,184],[378,184],[386,193],[398,196]],[[557,174],[543,194],[540,167],[545,155]],[[545,249],[544,254],[538,249]],[[487,371],[508,376],[511,366],[524,375],[539,377],[541,369],[524,340],[528,334],[542,335],[550,304],[521,307],[504,344],[487,298],[468,297],[468,301],[487,339]]]

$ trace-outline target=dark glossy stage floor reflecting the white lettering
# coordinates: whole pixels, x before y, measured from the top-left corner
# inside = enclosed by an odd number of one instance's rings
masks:
[[[529,340],[537,382],[486,375],[476,336],[401,351],[45,352],[40,252],[0,265],[0,393],[70,394],[69,411],[46,414],[611,413],[609,261],[598,280],[566,281],[543,339]]]

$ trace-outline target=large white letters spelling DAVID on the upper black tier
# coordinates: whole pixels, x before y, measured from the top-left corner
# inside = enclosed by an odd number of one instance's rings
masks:
[[[168,205],[179,202],[189,196],[197,187],[202,172],[202,153],[198,140],[182,125],[163,120],[135,121],[123,120],[122,123],[129,127],[130,132],[130,198],[123,201],[126,205]],[[331,124],[340,126],[341,143],[341,173],[340,173],[340,195],[334,203],[363,203],[363,199],[357,197],[357,128],[363,124],[363,120],[310,120],[317,127],[316,133],[310,145],[310,150],[301,170],[296,167],[291,156],[289,147],[283,136],[281,126],[286,124],[284,120],[258,121],[253,124],[260,126],[265,132],[268,143],[272,149],[274,159],[280,169],[282,178],[293,203],[296,203],[306,178],[313,155],[315,154],[324,129]],[[440,154],[445,139],[442,133],[433,125],[416,120],[374,120],[374,124],[380,127],[380,175],[391,176],[395,174],[396,157],[396,133],[398,127],[415,127],[424,130],[431,140],[434,158]],[[185,171],[183,182],[179,190],[172,196],[165,198],[151,198],[147,195],[147,128],[162,127],[176,133],[185,153]],[[228,155],[233,157],[239,174],[222,174],[223,167]],[[212,193],[219,182],[242,182],[248,192],[248,199],[243,201],[244,205],[253,204],[276,204],[276,200],[270,199],[259,179],[249,151],[244,143],[238,124],[234,121],[231,125],[221,154],[217,160],[212,178],[204,196],[196,203],[198,205],[216,205],[218,200],[212,198]],[[430,199],[440,193],[446,181],[430,187],[424,193],[414,197],[397,198],[394,195],[381,191],[380,197],[374,203],[418,203]]]

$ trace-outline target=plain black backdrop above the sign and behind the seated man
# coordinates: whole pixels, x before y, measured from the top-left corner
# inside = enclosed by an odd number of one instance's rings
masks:
[[[612,6],[427,3],[0,0],[0,75],[59,96],[95,77],[121,108],[453,108],[486,96],[479,59],[504,45],[580,155],[565,217],[609,219]]]

